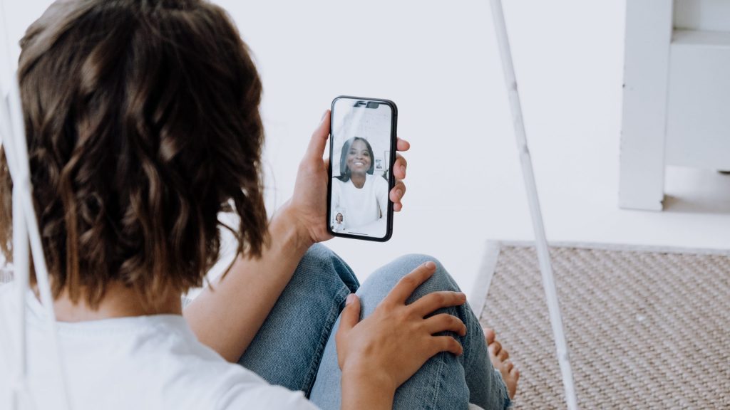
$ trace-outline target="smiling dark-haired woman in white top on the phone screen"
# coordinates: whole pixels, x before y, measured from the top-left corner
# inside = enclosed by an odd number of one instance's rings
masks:
[[[347,209],[347,231],[368,233],[385,223],[388,181],[373,175],[370,143],[359,136],[345,141],[339,160],[339,177],[332,182],[332,208]]]

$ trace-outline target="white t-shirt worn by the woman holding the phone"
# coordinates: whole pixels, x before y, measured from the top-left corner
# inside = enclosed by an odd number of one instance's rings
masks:
[[[17,322],[14,291],[11,285],[0,286],[0,326]],[[31,294],[27,303],[34,408],[57,409],[62,396],[45,311]],[[0,331],[7,336],[7,329]],[[179,315],[58,322],[58,333],[74,410],[316,409],[302,392],[272,386],[223,360]],[[8,360],[8,352],[0,352],[0,409],[11,409],[14,364]]]

